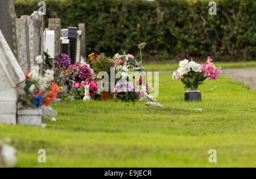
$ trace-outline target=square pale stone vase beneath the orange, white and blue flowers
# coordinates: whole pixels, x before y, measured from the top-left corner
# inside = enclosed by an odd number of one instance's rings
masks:
[[[18,110],[18,124],[40,126],[44,122],[42,109]]]

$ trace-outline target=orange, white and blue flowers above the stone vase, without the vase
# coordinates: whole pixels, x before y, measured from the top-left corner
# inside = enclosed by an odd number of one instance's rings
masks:
[[[19,95],[18,102],[25,108],[39,108],[41,106],[49,106],[59,93],[59,86],[55,83],[49,84],[47,91],[47,83],[53,80],[53,71],[46,70],[44,76],[39,74],[40,67],[32,66],[30,72],[25,72],[26,82],[24,85],[24,94]]]

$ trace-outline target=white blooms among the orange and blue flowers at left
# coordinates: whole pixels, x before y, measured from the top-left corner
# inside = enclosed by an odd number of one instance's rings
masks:
[[[39,74],[40,67],[38,65],[32,66],[30,69],[30,74],[28,74],[28,77],[31,77],[32,80],[38,82],[38,86],[40,90],[44,90],[46,88],[47,82],[50,82],[53,80],[53,70],[47,69],[45,76],[41,76]],[[30,86],[30,91],[34,91],[36,86],[32,84]]]

